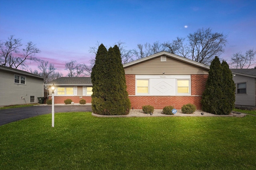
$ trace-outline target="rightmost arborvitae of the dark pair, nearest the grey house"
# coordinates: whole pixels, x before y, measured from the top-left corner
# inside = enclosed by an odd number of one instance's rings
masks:
[[[233,80],[233,74],[229,69],[228,63],[222,61],[222,114],[228,115],[235,106],[235,90],[236,86]]]

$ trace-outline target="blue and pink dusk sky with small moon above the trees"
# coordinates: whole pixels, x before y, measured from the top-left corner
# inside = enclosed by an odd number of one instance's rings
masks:
[[[36,57],[64,76],[65,62],[89,63],[97,41],[135,49],[208,27],[228,35],[220,56],[228,63],[234,53],[256,50],[256,0],[0,0],[0,40],[32,41]]]

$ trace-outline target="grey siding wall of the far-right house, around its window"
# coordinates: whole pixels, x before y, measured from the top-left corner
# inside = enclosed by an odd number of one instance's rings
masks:
[[[236,74],[233,76],[233,80],[235,83],[242,83],[246,82],[247,85],[247,94],[236,94],[236,105],[243,105],[243,106],[256,106],[255,105],[255,78],[248,77],[248,76],[241,76]]]

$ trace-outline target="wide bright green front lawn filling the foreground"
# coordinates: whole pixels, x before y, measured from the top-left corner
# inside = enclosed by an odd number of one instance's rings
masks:
[[[256,117],[56,113],[0,126],[0,169],[255,169]]]

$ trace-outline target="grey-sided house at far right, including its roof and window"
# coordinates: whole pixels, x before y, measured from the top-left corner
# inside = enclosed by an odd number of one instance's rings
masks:
[[[230,69],[236,84],[236,107],[256,108],[256,69]]]

